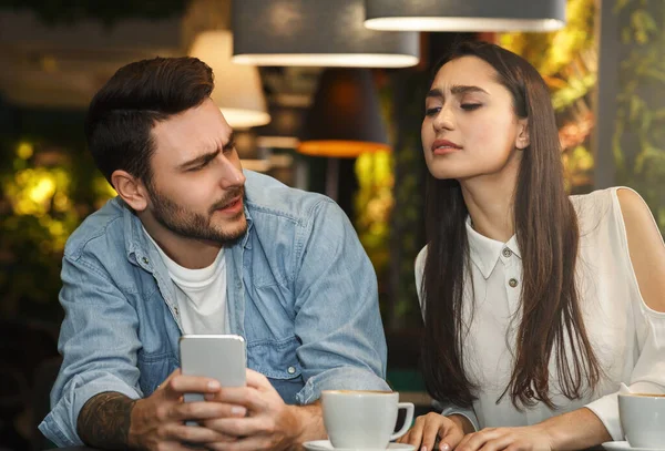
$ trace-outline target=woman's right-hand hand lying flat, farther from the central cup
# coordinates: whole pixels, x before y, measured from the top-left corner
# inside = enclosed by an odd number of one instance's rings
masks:
[[[487,428],[466,435],[457,451],[552,451],[552,440],[540,424],[520,428]]]

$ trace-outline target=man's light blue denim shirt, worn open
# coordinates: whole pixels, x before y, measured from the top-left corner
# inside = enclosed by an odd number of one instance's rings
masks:
[[[345,213],[245,175],[247,233],[225,252],[229,332],[245,338],[247,366],[287,403],[325,389],[388,390],[376,275]],[[39,426],[59,447],[82,443],[76,419],[93,396],[150,396],[180,366],[182,334],[168,270],[117,197],[69,238],[62,281],[63,362]]]

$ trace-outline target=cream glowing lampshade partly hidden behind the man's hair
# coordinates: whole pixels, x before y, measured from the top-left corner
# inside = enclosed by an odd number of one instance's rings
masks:
[[[234,129],[270,122],[258,69],[231,61],[233,38],[228,30],[204,31],[196,37],[190,55],[213,69],[216,78],[211,98]]]

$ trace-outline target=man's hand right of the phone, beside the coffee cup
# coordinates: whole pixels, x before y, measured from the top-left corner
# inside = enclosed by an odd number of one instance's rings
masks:
[[[321,410],[318,403],[305,407],[287,406],[260,373],[247,370],[247,386],[223,388],[218,393],[206,396],[212,404],[231,408],[245,407],[245,418],[217,418],[204,421],[204,426],[235,441],[208,443],[212,450],[223,451],[282,451],[297,448],[306,440],[325,438]]]

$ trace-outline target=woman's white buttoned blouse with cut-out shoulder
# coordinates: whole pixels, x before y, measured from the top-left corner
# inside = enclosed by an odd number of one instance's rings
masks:
[[[515,409],[505,390],[514,365],[520,322],[522,255],[515,236],[500,243],[477,233],[467,221],[471,277],[475,299],[467,286],[464,317],[474,315],[463,344],[464,365],[478,383],[473,409],[444,406],[442,414],[461,413],[479,428],[528,426],[587,407],[614,440],[623,440],[616,393],[624,382],[633,391],[665,393],[665,314],[646,306],[628,255],[626,230],[616,195],[618,188],[571,196],[580,223],[577,286],[587,336],[603,369],[595,392],[571,401],[559,391],[554,358],[550,362],[550,392],[557,410],[539,402]],[[416,260],[421,279],[427,246]],[[512,320],[512,322],[511,322]]]

